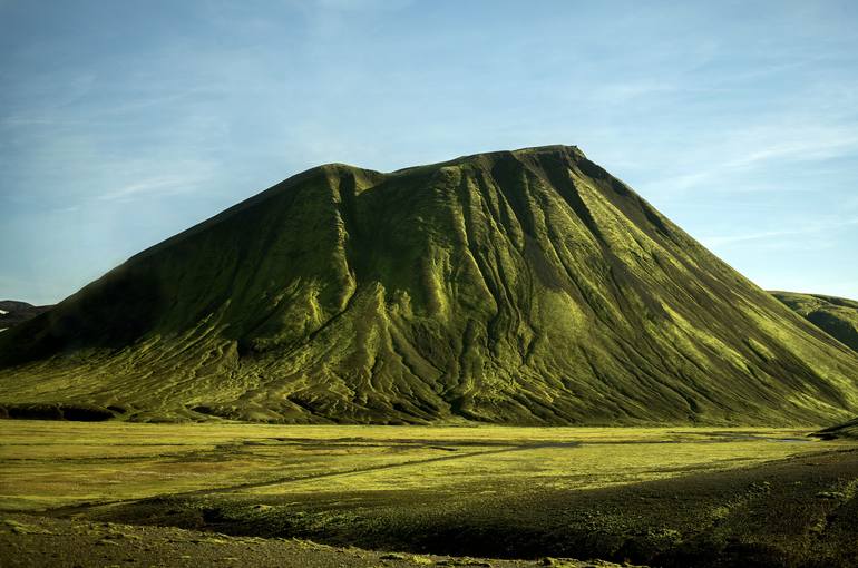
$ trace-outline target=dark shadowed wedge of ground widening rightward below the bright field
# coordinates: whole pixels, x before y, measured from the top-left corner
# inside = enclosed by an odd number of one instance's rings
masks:
[[[491,496],[485,489],[448,501],[392,490],[287,498],[213,492],[76,512],[416,554],[665,567],[858,566],[854,447],[603,489],[507,487]]]

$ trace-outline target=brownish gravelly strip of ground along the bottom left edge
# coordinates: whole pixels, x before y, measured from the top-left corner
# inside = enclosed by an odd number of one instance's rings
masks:
[[[11,515],[0,521],[0,566],[608,568],[616,565],[598,560],[487,560],[379,552],[353,547],[329,547],[306,540],[230,537],[174,527],[139,527]]]

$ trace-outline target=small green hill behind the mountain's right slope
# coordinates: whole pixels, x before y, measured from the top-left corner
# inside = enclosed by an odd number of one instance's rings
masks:
[[[821,294],[772,292],[809,322],[858,352],[858,302]]]

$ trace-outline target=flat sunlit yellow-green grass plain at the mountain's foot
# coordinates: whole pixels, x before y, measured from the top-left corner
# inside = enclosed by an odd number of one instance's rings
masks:
[[[0,507],[192,491],[588,489],[819,451],[805,431],[0,421]]]

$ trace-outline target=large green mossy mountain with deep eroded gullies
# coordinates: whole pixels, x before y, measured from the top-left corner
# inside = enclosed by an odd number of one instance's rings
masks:
[[[310,169],[0,335],[133,420],[831,423],[858,355],[575,147]]]

